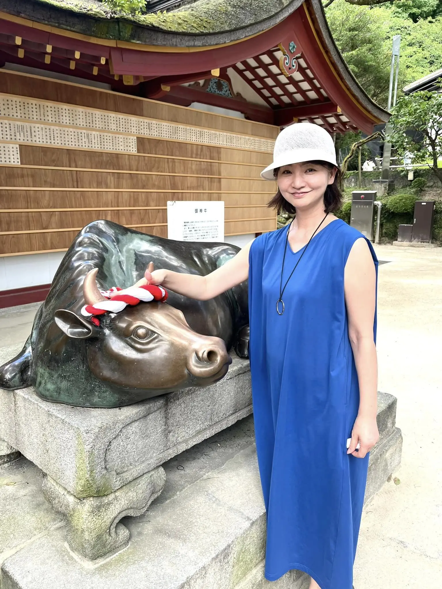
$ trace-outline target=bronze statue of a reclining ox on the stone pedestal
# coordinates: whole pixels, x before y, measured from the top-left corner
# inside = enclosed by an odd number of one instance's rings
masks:
[[[100,326],[80,310],[102,300],[100,290],[137,282],[151,261],[157,268],[208,274],[237,252],[226,244],[167,240],[94,221],[62,260],[24,348],[0,368],[0,388],[32,385],[47,401],[117,407],[223,378],[232,361],[227,350],[235,346],[248,356],[247,282],[207,301],[169,292],[167,303],[106,313]]]

